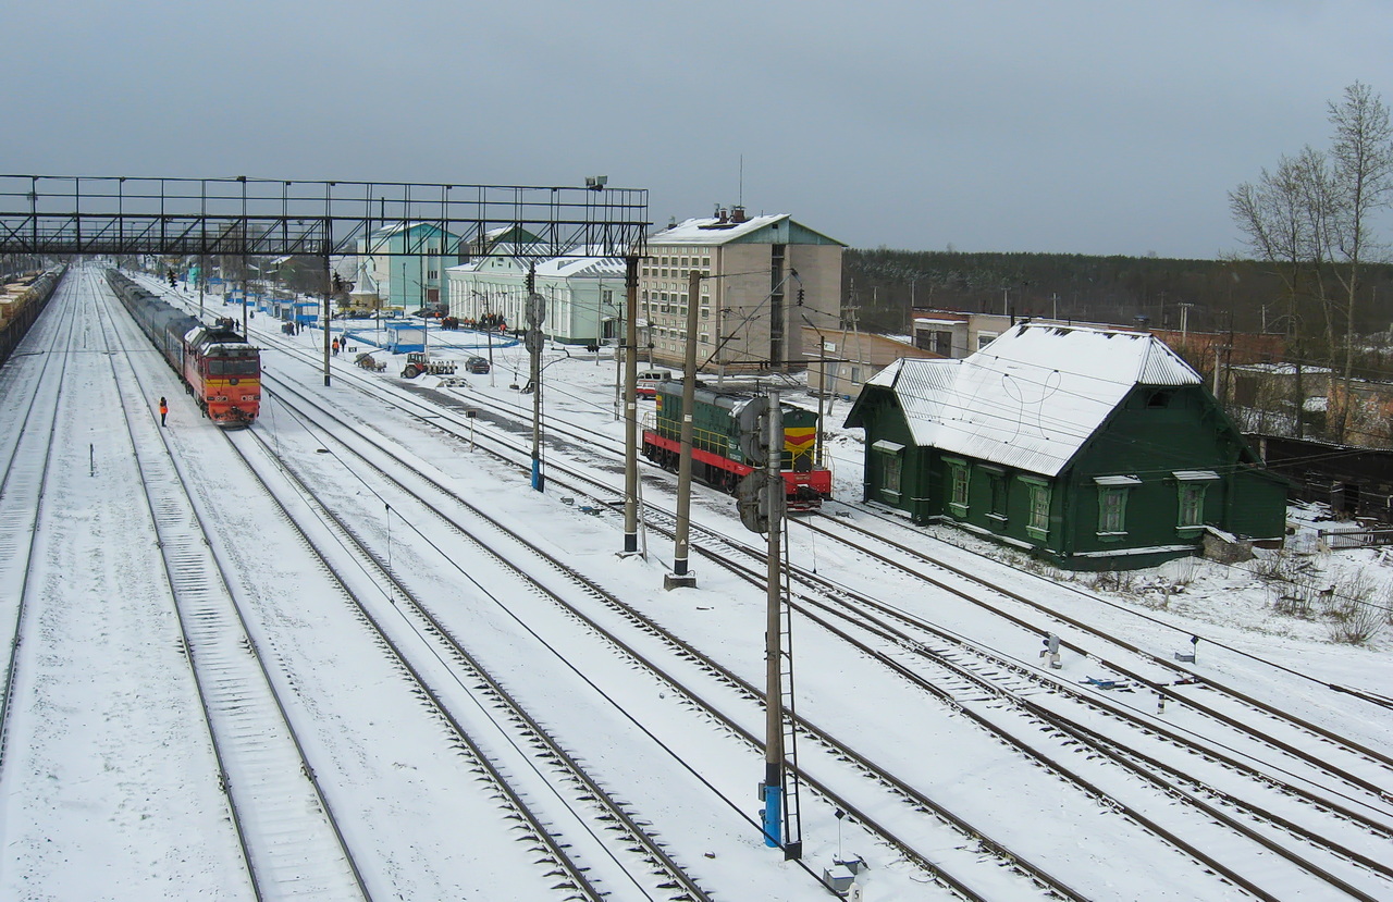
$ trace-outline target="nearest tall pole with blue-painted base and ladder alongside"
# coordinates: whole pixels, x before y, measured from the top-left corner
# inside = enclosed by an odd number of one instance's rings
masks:
[[[765,608],[765,845],[783,845],[783,679],[781,679],[781,554],[784,479],[783,479],[783,408],[779,391],[769,393],[769,440],[765,472],[769,493],[769,593]]]

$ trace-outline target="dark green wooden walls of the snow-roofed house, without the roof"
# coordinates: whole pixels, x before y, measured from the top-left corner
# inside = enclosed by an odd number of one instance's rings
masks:
[[[1074,569],[1128,569],[1192,554],[1205,526],[1268,540],[1286,523],[1286,482],[1261,469],[1201,386],[1135,387],[1053,479],[917,447],[883,386],[866,387],[847,425],[865,429],[865,500],[917,522],[951,521]],[[885,441],[903,445],[898,493],[885,486],[886,451],[875,447]],[[965,475],[965,504],[954,504],[954,470]],[[1191,500],[1199,504],[1198,523],[1181,521],[1187,486],[1198,496]],[[1038,529],[1032,493],[1042,489],[1048,522]]]

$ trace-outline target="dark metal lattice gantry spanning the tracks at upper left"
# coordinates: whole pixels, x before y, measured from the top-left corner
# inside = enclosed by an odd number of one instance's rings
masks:
[[[649,224],[646,189],[603,184],[0,175],[0,253],[628,258]]]

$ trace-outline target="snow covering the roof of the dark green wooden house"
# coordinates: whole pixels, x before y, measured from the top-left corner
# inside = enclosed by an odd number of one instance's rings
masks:
[[[919,445],[1056,476],[1134,386],[1199,374],[1144,333],[1021,323],[961,361],[901,359],[896,393]]]

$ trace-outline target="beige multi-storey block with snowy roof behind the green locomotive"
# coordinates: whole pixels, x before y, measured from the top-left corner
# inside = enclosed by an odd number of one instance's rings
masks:
[[[840,323],[844,246],[787,213],[747,217],[738,206],[673,224],[648,239],[639,267],[639,344],[655,362],[678,365],[695,302],[703,370],[802,369],[802,327]],[[695,299],[692,271],[702,276]]]

